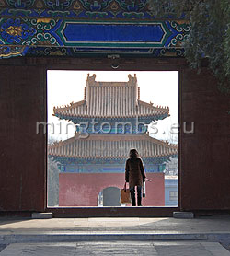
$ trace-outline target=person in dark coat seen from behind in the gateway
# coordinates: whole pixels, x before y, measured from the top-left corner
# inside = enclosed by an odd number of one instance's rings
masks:
[[[142,206],[142,187],[146,175],[141,157],[138,157],[136,149],[131,149],[130,157],[125,163],[125,181],[129,182],[132,206],[136,206],[135,187],[137,187],[137,205]]]

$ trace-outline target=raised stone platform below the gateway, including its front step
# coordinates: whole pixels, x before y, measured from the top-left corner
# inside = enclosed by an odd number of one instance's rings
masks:
[[[0,217],[0,251],[5,245],[12,243],[167,240],[220,242],[224,248],[230,250],[230,216],[217,215],[195,219]]]

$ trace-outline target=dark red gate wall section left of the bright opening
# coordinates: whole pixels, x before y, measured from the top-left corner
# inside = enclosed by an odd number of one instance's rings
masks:
[[[13,61],[12,61],[13,62]],[[46,200],[44,68],[0,63],[0,211],[43,211]]]

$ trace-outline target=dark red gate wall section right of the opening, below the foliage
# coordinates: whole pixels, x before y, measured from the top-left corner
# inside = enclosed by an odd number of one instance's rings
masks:
[[[205,69],[185,68],[180,77],[181,121],[195,124],[194,134],[180,133],[180,206],[230,209],[230,96]]]

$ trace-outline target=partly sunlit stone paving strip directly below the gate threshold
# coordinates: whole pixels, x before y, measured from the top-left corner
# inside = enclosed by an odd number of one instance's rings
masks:
[[[0,217],[0,235],[47,232],[224,233],[230,232],[230,216],[221,215],[194,219],[175,219],[172,217],[14,219]]]

